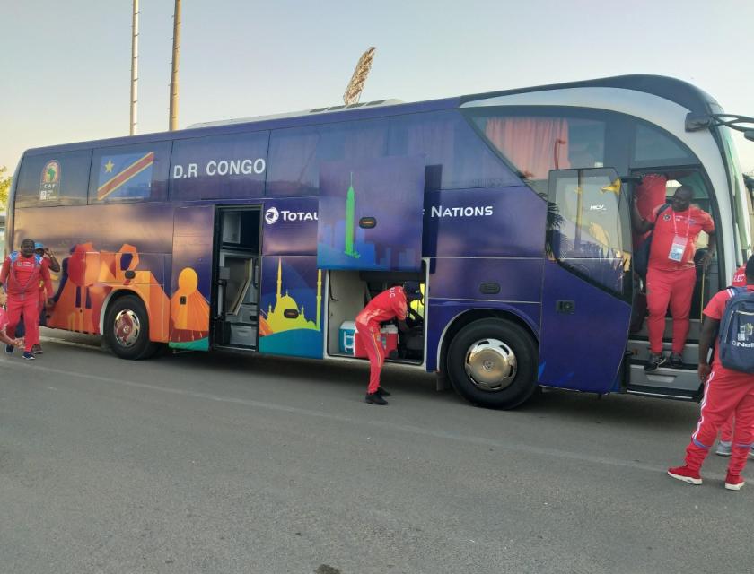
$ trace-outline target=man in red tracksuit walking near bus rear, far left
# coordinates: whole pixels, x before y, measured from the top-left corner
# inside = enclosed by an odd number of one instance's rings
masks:
[[[25,327],[25,345],[23,358],[34,359],[31,349],[39,344],[39,283],[43,282],[48,295],[48,304],[52,304],[52,282],[49,277],[48,260],[34,253],[33,239],[23,239],[21,252],[14,251],[5,258],[0,283],[8,294],[7,334],[15,336],[15,327],[23,313]],[[5,352],[11,354],[13,345],[6,345]]]

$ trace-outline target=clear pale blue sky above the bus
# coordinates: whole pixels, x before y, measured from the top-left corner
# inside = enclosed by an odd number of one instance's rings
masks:
[[[0,0],[0,167],[128,134],[131,0]],[[165,131],[171,0],[141,0],[138,132]],[[362,101],[432,100],[619,74],[694,83],[754,116],[752,0],[183,0],[179,128]],[[735,135],[744,171],[754,142]]]

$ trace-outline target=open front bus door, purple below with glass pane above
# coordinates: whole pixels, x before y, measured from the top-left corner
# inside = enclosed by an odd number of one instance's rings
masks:
[[[612,169],[553,170],[539,384],[612,389],[631,321],[630,197]]]

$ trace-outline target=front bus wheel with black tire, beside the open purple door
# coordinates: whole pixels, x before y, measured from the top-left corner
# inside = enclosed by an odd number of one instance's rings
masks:
[[[537,389],[537,362],[537,344],[526,329],[489,318],[470,323],[453,337],[446,365],[453,388],[469,403],[513,409]]]

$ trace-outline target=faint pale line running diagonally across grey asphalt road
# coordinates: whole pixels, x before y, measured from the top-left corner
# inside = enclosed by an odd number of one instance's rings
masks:
[[[30,368],[30,366],[27,364],[22,364],[20,361],[13,361],[13,359],[0,357],[0,362],[4,363],[4,368],[10,367],[11,369],[15,369],[19,371],[24,370],[26,373],[29,372],[28,369]],[[194,397],[198,399],[215,401],[218,403],[242,404],[244,406],[267,409],[269,411],[300,414],[303,416],[310,416],[310,417],[319,418],[319,419],[328,419],[330,421],[347,422],[347,423],[351,423],[360,427],[363,427],[364,425],[369,425],[369,426],[383,429],[386,431],[403,431],[403,432],[407,432],[407,433],[411,433],[415,435],[432,437],[434,439],[449,439],[449,440],[464,442],[464,443],[478,445],[478,446],[500,448],[502,450],[507,450],[511,452],[533,454],[533,455],[539,455],[542,457],[562,458],[562,459],[567,459],[567,460],[575,460],[579,462],[588,462],[588,463],[592,463],[596,465],[609,465],[609,466],[617,466],[621,468],[635,468],[638,470],[644,470],[644,471],[648,471],[652,473],[665,473],[666,471],[664,466],[646,465],[644,463],[637,463],[636,461],[633,461],[633,460],[624,460],[621,458],[613,458],[613,457],[598,457],[598,456],[589,455],[589,454],[585,454],[581,452],[561,450],[558,448],[535,447],[533,445],[528,445],[524,443],[506,442],[504,440],[499,440],[499,439],[487,439],[485,437],[477,437],[473,435],[461,434],[461,433],[452,432],[452,431],[443,431],[440,429],[426,429],[423,427],[417,427],[417,426],[409,425],[409,424],[399,424],[396,422],[368,421],[368,420],[364,420],[364,418],[361,418],[361,417],[351,417],[351,416],[346,416],[343,414],[324,413],[322,411],[314,411],[311,409],[304,409],[304,408],[300,408],[296,406],[288,406],[285,404],[265,403],[262,401],[254,401],[250,399],[236,398],[232,396],[212,395],[210,393],[190,391],[183,388],[162,387],[160,385],[149,385],[147,383],[139,383],[136,381],[125,380],[121,378],[102,377],[101,375],[91,375],[88,373],[81,373],[81,372],[76,372],[73,370],[55,369],[52,367],[44,367],[42,365],[39,365],[39,363],[34,364],[33,366],[31,366],[31,368],[34,370],[41,370],[41,371],[53,373],[53,374],[64,374],[64,375],[69,375],[71,377],[86,378],[93,381],[100,381],[103,383],[121,385],[123,387],[143,388],[143,389],[147,389],[147,390],[151,390],[155,392],[167,393],[171,395],[190,396],[190,397]],[[370,408],[370,407],[364,405],[364,408]],[[706,474],[706,476],[709,476],[715,479],[723,478],[723,474]]]

